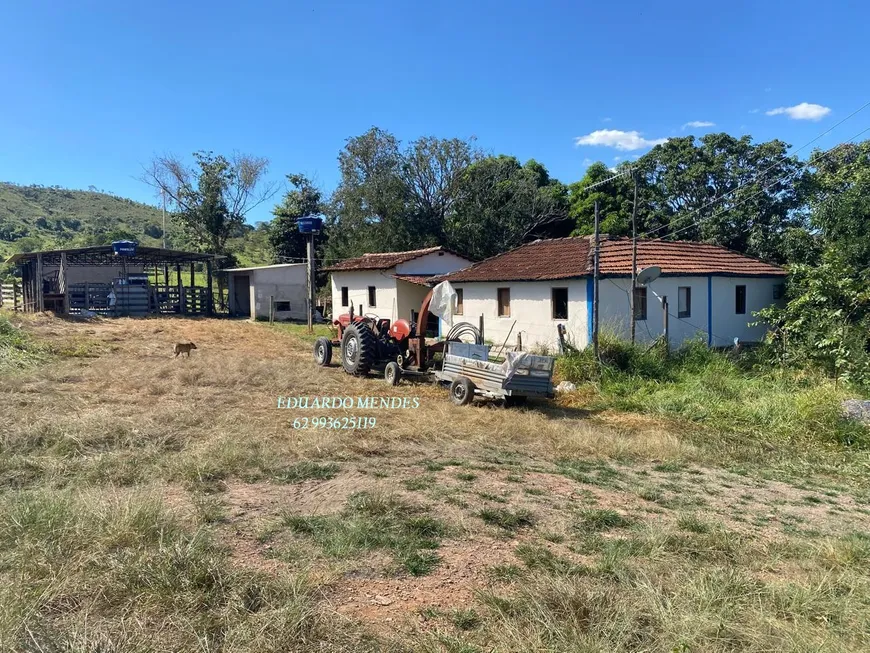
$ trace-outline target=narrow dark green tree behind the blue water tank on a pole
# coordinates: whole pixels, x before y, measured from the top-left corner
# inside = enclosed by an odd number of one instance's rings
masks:
[[[287,191],[281,204],[272,210],[274,219],[268,226],[269,247],[276,263],[299,262],[307,256],[308,237],[299,233],[297,221],[309,215],[322,215],[324,203],[321,192],[305,175],[287,175],[293,186]],[[322,246],[322,235],[315,236],[315,249]]]

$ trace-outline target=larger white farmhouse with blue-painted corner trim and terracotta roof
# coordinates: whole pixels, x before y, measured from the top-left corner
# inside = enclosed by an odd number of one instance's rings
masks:
[[[630,238],[601,238],[599,315],[602,333],[627,337],[630,329]],[[558,238],[523,245],[445,275],[456,289],[457,321],[483,319],[487,340],[524,348],[553,348],[557,326],[578,348],[592,337],[594,245],[591,237]],[[661,276],[636,290],[636,337],[662,335],[667,299],[669,342],[701,338],[711,346],[734,339],[758,341],[763,326],[753,314],[777,302],[786,272],[723,247],[688,241],[641,240],[638,270],[659,266]]]

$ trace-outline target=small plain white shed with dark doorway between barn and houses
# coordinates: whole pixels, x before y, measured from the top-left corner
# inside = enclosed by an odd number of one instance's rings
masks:
[[[225,270],[230,315],[268,319],[270,301],[276,320],[308,319],[308,265],[289,263]]]

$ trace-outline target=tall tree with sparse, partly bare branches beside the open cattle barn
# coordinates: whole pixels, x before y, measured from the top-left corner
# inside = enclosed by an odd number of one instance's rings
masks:
[[[195,152],[188,166],[174,155],[156,158],[143,181],[165,194],[187,242],[214,254],[228,254],[227,240],[254,207],[274,196],[264,180],[268,160],[234,153],[229,159]]]

